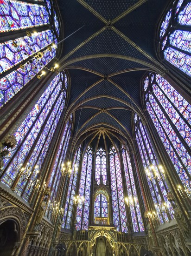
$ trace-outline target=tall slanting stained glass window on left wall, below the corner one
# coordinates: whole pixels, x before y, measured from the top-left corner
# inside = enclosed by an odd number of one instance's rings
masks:
[[[17,145],[4,160],[1,180],[9,187],[18,177],[21,167],[24,168],[15,191],[25,200],[28,200],[32,193],[32,186],[38,177],[38,175],[33,174],[33,171],[36,166],[40,169],[43,165],[52,136],[65,106],[65,99],[66,89],[64,87],[64,72],[62,72],[51,81],[16,131]],[[32,173],[33,183],[29,183],[28,179],[23,179],[23,175],[29,169]]]

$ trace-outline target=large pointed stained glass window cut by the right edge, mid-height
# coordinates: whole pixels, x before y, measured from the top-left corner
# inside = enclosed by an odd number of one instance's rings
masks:
[[[177,174],[191,186],[191,105],[161,75],[144,81],[146,108]]]

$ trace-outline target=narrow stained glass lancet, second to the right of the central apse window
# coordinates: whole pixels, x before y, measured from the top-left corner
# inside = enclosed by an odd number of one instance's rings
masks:
[[[134,182],[134,174],[131,165],[131,160],[127,150],[122,146],[122,158],[125,172],[125,179],[127,184],[127,196],[129,198],[136,198],[134,205],[130,205],[131,219],[134,232],[144,231],[143,220],[140,213],[140,204],[137,197],[136,186]]]

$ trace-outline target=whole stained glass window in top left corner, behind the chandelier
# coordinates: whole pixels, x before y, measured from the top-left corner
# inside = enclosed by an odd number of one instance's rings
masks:
[[[0,43],[0,108],[56,56],[59,24],[51,20],[50,10],[49,0],[34,4],[1,0],[0,34],[8,33],[11,40]],[[49,28],[45,30],[46,25]],[[38,32],[33,30],[35,27]],[[28,29],[27,36],[12,33],[23,29]],[[37,59],[35,54],[39,53],[40,59]]]

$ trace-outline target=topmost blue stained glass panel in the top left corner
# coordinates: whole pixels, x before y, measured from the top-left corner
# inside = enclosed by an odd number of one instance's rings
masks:
[[[0,33],[49,23],[46,7],[17,0],[1,0]]]

